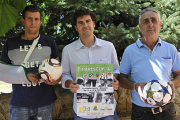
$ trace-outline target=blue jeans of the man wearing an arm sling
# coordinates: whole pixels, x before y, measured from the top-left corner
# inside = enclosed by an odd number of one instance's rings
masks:
[[[11,105],[9,120],[52,120],[53,104],[43,107],[17,107]]]

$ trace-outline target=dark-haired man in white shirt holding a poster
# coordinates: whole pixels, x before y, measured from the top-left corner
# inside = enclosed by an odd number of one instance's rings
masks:
[[[102,120],[118,120],[117,113],[110,116],[77,116],[77,90],[80,88],[76,85],[76,64],[100,64],[112,63],[114,77],[118,79],[119,64],[117,53],[114,45],[111,42],[101,40],[94,36],[94,27],[96,15],[88,9],[81,8],[76,10],[73,17],[73,26],[79,33],[79,39],[65,46],[62,53],[63,78],[62,86],[65,89],[70,89],[74,93],[74,119],[99,119]],[[114,90],[119,87],[119,82],[114,79],[112,86]],[[116,105],[116,104],[115,104]]]

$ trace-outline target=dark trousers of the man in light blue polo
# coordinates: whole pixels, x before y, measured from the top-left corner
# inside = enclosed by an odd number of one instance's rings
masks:
[[[164,110],[160,113],[153,114],[149,108],[140,107],[132,103],[131,120],[176,120],[176,111],[174,103],[164,106]]]

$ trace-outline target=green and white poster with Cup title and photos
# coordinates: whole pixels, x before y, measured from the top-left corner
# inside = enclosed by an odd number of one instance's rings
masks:
[[[114,115],[113,64],[77,64],[77,115]]]

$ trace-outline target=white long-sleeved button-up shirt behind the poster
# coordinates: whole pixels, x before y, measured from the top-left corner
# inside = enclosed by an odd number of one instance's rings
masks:
[[[62,52],[62,67],[63,77],[62,87],[65,87],[66,80],[76,80],[76,64],[99,64],[99,63],[113,63],[113,73],[119,74],[119,64],[117,60],[117,53],[114,45],[111,42],[98,39],[95,37],[95,43],[90,48],[85,47],[80,38],[73,43],[64,47]],[[77,113],[77,99],[74,93],[73,109]],[[116,104],[115,104],[116,106]],[[105,116],[82,116],[83,118],[101,118]]]

